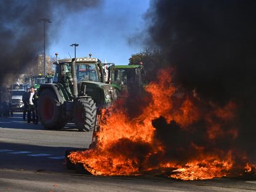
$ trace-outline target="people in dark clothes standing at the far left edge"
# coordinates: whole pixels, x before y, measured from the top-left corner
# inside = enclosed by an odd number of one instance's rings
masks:
[[[12,92],[10,88],[2,87],[0,90],[0,117],[14,116],[12,111]]]

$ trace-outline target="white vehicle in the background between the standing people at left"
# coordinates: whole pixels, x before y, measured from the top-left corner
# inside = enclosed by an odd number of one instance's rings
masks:
[[[25,89],[12,89],[12,110],[22,111],[24,103],[22,102],[22,95],[26,92]]]

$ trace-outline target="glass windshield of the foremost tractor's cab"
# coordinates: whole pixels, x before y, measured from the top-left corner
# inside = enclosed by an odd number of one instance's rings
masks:
[[[80,81],[99,81],[96,63],[76,63],[76,76]]]

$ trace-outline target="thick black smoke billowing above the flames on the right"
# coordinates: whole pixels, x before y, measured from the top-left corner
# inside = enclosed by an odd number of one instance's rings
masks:
[[[175,82],[220,106],[237,103],[237,147],[254,158],[255,7],[253,0],[166,0],[151,2],[146,14],[146,43],[175,69]]]

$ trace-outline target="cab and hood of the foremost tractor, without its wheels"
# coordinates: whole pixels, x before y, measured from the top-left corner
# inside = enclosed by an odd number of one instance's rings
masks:
[[[94,98],[98,106],[109,106],[117,98],[116,89],[105,83],[105,70],[98,58],[68,58],[54,64],[54,83],[66,87],[66,100],[86,94]]]

